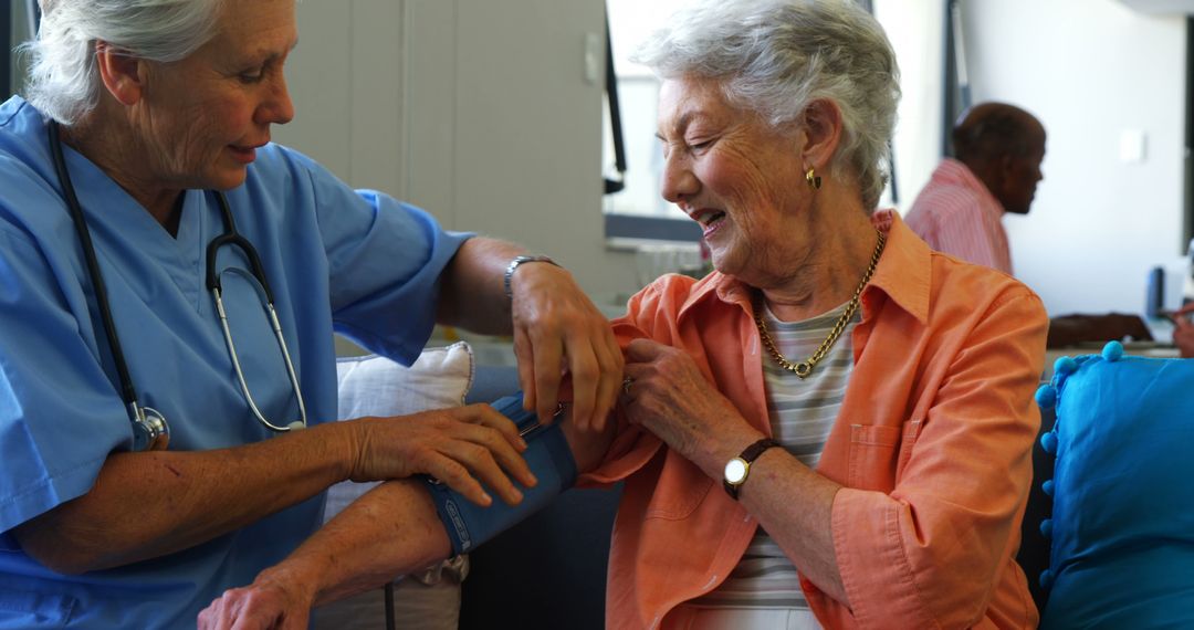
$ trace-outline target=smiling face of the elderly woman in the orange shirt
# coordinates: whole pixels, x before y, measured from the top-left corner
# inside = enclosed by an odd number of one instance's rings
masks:
[[[808,237],[795,224],[808,204],[804,134],[730,106],[715,80],[679,78],[660,87],[658,136],[663,196],[701,223],[718,271],[756,284],[790,268]]]

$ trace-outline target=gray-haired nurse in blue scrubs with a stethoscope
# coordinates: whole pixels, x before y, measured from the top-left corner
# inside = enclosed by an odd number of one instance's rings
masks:
[[[561,360],[609,412],[621,353],[567,271],[270,143],[294,0],[43,13],[0,105],[0,628],[193,628],[345,478],[535,483],[488,406],[331,422],[333,331],[406,363],[436,322],[512,333],[541,414]]]

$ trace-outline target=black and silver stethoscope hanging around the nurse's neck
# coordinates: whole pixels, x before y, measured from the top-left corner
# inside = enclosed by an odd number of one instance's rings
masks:
[[[129,420],[133,422],[133,450],[134,451],[159,451],[166,450],[170,445],[170,425],[166,422],[166,416],[161,414],[158,409],[152,407],[144,407],[137,402],[137,393],[133,387],[133,378],[129,376],[128,364],[124,362],[124,352],[121,350],[121,340],[116,334],[116,325],[112,323],[112,309],[107,302],[107,289],[104,284],[104,277],[99,270],[99,262],[96,260],[96,249],[91,243],[91,231],[87,229],[87,220],[82,215],[82,208],[79,205],[79,198],[75,194],[74,186],[70,184],[70,174],[67,172],[67,162],[62,158],[62,142],[59,137],[59,124],[57,122],[50,121],[49,123],[50,132],[50,152],[54,156],[54,169],[57,171],[59,183],[62,185],[62,192],[67,200],[67,208],[70,210],[70,218],[74,221],[75,231],[79,234],[79,242],[82,245],[84,259],[87,262],[87,273],[91,276],[91,283],[96,288],[96,303],[99,307],[99,315],[104,322],[104,332],[107,336],[107,345],[112,348],[112,359],[116,362],[116,372],[121,379],[121,394],[124,400],[124,404],[129,410]],[[233,221],[232,210],[228,208],[228,200],[224,198],[223,193],[216,191],[216,198],[220,202],[220,212],[223,215],[224,231],[219,236],[211,239],[208,243],[208,265],[207,265],[207,286],[211,291],[211,296],[215,299],[216,313],[220,315],[220,325],[223,328],[224,342],[228,346],[228,354],[232,357],[232,365],[236,372],[236,378],[240,381],[240,390],[245,394],[245,400],[248,401],[248,407],[265,427],[276,432],[296,431],[307,427],[307,407],[303,404],[302,391],[298,388],[298,376],[295,373],[294,363],[290,360],[290,352],[287,350],[285,339],[282,335],[282,325],[278,322],[278,314],[273,308],[273,291],[270,290],[270,283],[265,278],[265,272],[261,267],[261,260],[257,255],[257,249],[247,239],[236,231],[236,223]],[[236,356],[236,345],[233,344],[232,332],[228,328],[228,314],[224,311],[223,299],[221,297],[223,292],[223,285],[220,279],[220,274],[216,273],[216,252],[222,246],[235,246],[245,254],[248,259],[248,265],[252,267],[252,276],[257,280],[259,288],[259,296],[261,297],[263,305],[266,314],[270,316],[270,325],[273,328],[273,335],[277,338],[278,347],[282,348],[282,358],[287,364],[287,373],[290,376],[290,387],[294,388],[295,397],[298,400],[298,415],[300,419],[290,422],[288,425],[275,425],[269,421],[261,410],[257,407],[257,402],[253,400],[253,395],[248,391],[248,383],[245,381],[245,372],[240,368],[240,358]],[[232,268],[229,271],[240,270]]]

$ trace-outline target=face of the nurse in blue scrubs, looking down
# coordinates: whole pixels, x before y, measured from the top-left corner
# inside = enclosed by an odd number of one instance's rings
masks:
[[[216,36],[189,57],[144,62],[131,124],[144,168],[170,189],[245,181],[270,125],[294,117],[283,64],[297,43],[294,0],[222,4]]]

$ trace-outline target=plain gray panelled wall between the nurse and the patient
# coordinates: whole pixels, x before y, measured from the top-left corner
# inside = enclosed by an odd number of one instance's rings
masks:
[[[602,0],[298,2],[297,117],[275,138],[449,229],[554,257],[593,295],[635,289],[605,248]],[[601,58],[598,57],[598,61]],[[603,67],[598,64],[598,69]]]

